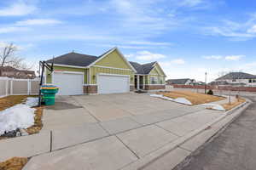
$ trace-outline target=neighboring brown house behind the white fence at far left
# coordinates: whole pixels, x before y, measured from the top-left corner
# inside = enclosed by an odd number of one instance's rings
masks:
[[[22,71],[11,66],[0,66],[0,77],[11,77],[20,79],[33,79],[36,77],[35,71]]]

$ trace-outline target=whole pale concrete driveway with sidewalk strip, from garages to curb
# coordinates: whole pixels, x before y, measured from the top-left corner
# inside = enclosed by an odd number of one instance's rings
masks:
[[[32,157],[24,170],[121,169],[177,144],[223,114],[148,94],[58,97],[44,110],[40,133],[0,144],[0,161]]]

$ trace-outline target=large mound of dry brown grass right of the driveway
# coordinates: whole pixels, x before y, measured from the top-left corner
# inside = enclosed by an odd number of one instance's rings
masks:
[[[189,91],[160,92],[158,94],[163,94],[164,96],[170,97],[172,99],[185,98],[185,99],[188,99],[193,105],[201,105],[201,104],[225,99],[224,97],[208,95],[208,94],[199,94],[199,93],[194,93]]]

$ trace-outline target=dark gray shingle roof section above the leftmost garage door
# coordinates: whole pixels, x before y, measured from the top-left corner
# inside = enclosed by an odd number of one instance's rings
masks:
[[[76,65],[76,66],[88,66],[92,62],[96,61],[99,57],[87,54],[78,54],[78,53],[68,53],[63,54],[55,58],[55,64],[59,65]],[[46,62],[51,63],[52,59],[47,60]]]

